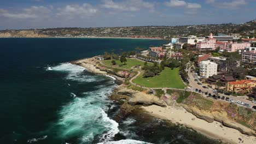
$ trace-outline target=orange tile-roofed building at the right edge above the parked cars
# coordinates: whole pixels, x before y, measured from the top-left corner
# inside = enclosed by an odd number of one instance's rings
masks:
[[[255,80],[239,80],[232,81],[226,84],[226,91],[236,93],[247,93],[252,91],[252,88],[256,86]]]

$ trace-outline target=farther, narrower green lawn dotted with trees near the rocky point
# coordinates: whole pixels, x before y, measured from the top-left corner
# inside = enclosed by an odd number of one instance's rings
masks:
[[[117,67],[117,68],[124,68],[124,69],[131,69],[131,67],[134,67],[135,65],[141,64],[142,66],[144,65],[144,62],[138,61],[137,59],[134,58],[127,58],[127,62],[125,62],[125,65],[122,67],[119,66],[119,64],[124,64],[121,63],[119,59],[115,60],[115,65],[111,63],[112,60],[107,60],[103,61],[104,64],[109,65],[111,67]],[[148,63],[148,65],[153,65],[152,63]]]

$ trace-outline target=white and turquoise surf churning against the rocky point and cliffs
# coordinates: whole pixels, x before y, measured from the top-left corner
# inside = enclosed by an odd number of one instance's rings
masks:
[[[85,75],[84,68],[71,63],[62,63],[53,67],[54,71],[66,72],[66,80],[89,83],[94,80],[106,79],[98,75]],[[117,85],[105,82],[98,87],[96,91],[84,92],[79,97],[70,93],[73,100],[62,106],[59,111],[59,121],[53,125],[57,129],[57,135],[64,140],[72,137],[80,137],[80,143],[91,143],[95,139],[102,142],[113,140],[113,137],[119,133],[118,123],[110,119],[107,115],[110,104],[107,100]]]

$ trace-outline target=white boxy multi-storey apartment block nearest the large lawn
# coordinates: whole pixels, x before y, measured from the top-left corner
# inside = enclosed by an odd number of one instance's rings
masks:
[[[209,76],[217,75],[218,64],[210,60],[200,62],[200,76],[209,78]]]

